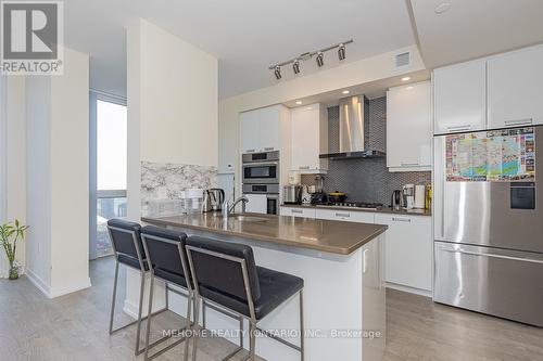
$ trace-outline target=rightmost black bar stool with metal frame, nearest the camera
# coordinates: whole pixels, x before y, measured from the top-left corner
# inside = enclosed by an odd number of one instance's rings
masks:
[[[250,246],[214,241],[200,236],[187,240],[194,296],[206,304],[226,308],[242,317],[250,324],[250,352],[243,360],[255,358],[255,332],[280,341],[300,352],[304,360],[303,286],[298,276],[257,267]],[[300,296],[300,346],[257,327],[257,322],[294,296]],[[198,320],[199,302],[195,302],[194,320]],[[236,317],[235,317],[236,318]],[[195,360],[198,336],[194,334],[192,360]],[[229,354],[227,360],[238,353]]]

